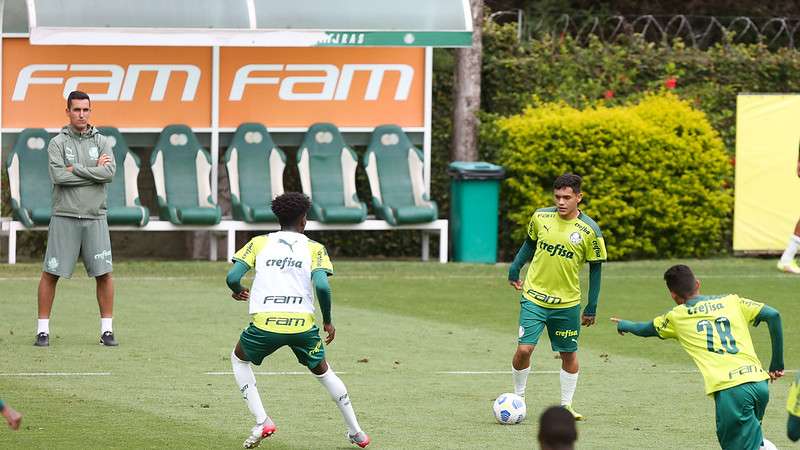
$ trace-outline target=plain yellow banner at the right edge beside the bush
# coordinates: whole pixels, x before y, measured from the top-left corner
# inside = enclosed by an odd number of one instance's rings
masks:
[[[736,101],[733,250],[781,251],[800,218],[800,95]]]

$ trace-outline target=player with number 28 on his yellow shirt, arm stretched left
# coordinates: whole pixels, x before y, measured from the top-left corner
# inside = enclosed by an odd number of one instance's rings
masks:
[[[702,296],[700,282],[684,265],[664,274],[678,306],[650,322],[612,318],[620,334],[675,339],[689,353],[714,396],[717,439],[725,450],[775,448],[764,439],[761,419],[769,402],[766,380],[783,376],[781,316],[769,306],[738,295]],[[769,371],[761,368],[748,326],[766,322],[772,339]]]

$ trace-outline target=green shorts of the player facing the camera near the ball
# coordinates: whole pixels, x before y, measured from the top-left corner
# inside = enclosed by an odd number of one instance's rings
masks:
[[[578,351],[581,334],[581,306],[544,308],[525,298],[520,300],[519,343],[536,345],[545,325],[550,347],[555,352]]]

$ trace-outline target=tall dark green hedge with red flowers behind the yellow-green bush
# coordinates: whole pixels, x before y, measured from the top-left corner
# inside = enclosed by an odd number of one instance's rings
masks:
[[[624,104],[669,88],[708,115],[728,153],[735,152],[736,95],[800,91],[800,52],[764,44],[734,44],[732,36],[701,50],[680,41],[659,45],[641,37],[580,45],[569,37],[520,43],[513,25],[489,22],[484,34],[481,109],[516,114],[535,96],[584,107]]]

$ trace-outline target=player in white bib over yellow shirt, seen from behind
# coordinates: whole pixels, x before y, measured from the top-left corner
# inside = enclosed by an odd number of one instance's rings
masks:
[[[301,193],[278,196],[272,201],[272,211],[278,216],[281,231],[253,238],[234,255],[234,266],[228,272],[226,281],[233,298],[250,303],[250,326],[231,354],[239,391],[256,417],[244,448],[258,447],[276,430],[261,403],[250,363],[261,365],[265,357],[283,346],[292,349],[297,361],[308,367],[336,402],[347,423],[348,440],[361,448],[370,442],[358,425],[347,388],[325,361],[325,348],[314,323],[312,290],[322,310],[323,329],[328,335],[325,344],[330,344],[336,335],[328,285],[333,265],[325,247],[303,234],[310,208],[311,201]],[[250,269],[256,270],[252,292],[241,285]]]

